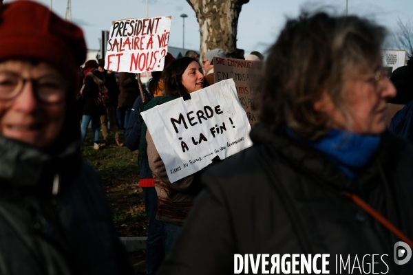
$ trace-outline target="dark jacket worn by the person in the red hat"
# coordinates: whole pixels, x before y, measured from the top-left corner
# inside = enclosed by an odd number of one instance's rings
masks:
[[[76,144],[52,155],[0,135],[0,274],[132,274]]]

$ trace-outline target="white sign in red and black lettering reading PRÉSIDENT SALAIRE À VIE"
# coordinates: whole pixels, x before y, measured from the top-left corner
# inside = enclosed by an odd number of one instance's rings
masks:
[[[162,71],[170,30],[170,17],[114,21],[107,41],[105,69],[132,73]]]

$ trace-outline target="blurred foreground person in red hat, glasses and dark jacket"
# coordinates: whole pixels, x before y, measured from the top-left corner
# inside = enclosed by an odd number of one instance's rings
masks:
[[[0,17],[0,274],[133,274],[79,153],[83,32],[32,1]]]

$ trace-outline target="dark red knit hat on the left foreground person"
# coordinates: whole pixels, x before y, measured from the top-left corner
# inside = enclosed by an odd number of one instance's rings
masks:
[[[0,61],[44,61],[75,80],[86,51],[82,30],[45,6],[25,0],[0,3]]]

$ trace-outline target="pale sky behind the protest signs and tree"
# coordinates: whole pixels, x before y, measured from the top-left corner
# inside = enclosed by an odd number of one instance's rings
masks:
[[[65,17],[67,0],[36,0]],[[195,12],[186,0],[147,0],[149,17],[172,16],[169,45],[182,47],[182,18],[185,19],[185,48],[199,50],[200,34]],[[5,1],[10,2],[10,0]],[[286,17],[296,17],[306,5],[329,6],[335,12],[346,12],[346,0],[250,0],[242,5],[238,21],[237,47],[249,54],[253,50],[264,53],[274,43]],[[375,19],[394,30],[398,18],[411,21],[413,0],[348,0],[348,13]],[[112,21],[145,18],[146,0],[72,0],[72,21],[83,28],[89,49],[99,49],[101,30],[109,30]]]

